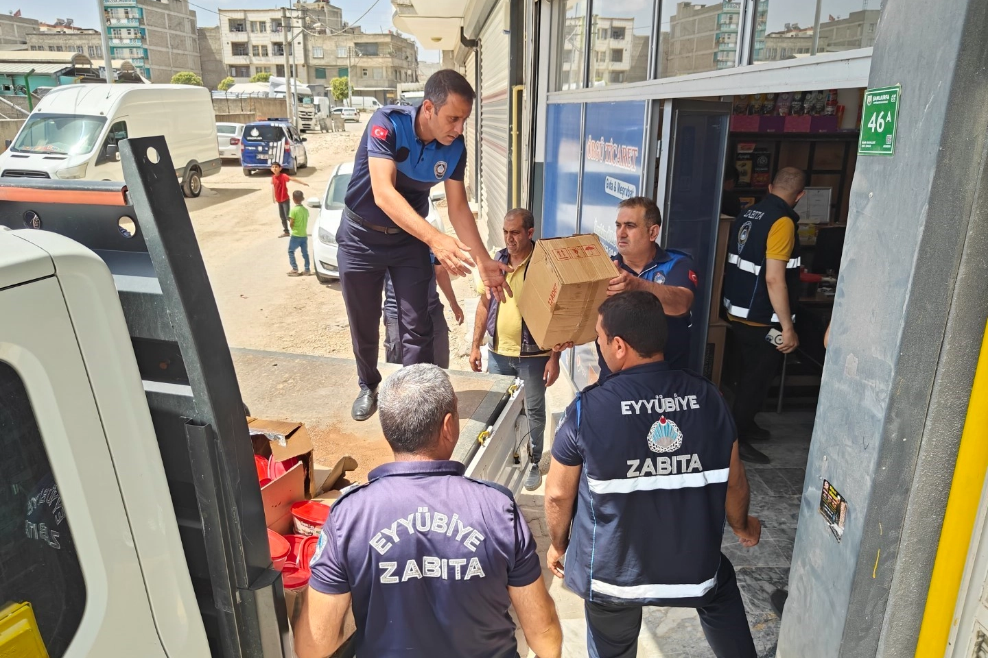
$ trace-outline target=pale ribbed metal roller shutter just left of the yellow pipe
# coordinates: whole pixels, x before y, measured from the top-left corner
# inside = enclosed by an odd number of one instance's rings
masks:
[[[507,5],[501,0],[480,34],[480,220],[490,242],[501,246],[501,226],[508,212],[508,68],[511,37],[505,34]]]

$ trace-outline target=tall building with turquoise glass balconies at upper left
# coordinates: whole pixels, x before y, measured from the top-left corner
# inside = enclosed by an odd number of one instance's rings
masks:
[[[113,59],[128,59],[151,82],[202,74],[196,12],[183,0],[103,0]]]

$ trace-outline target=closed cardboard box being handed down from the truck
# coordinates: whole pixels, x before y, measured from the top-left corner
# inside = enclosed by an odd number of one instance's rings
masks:
[[[525,288],[518,301],[539,346],[578,345],[597,337],[597,309],[607,298],[617,268],[594,234],[535,243]]]

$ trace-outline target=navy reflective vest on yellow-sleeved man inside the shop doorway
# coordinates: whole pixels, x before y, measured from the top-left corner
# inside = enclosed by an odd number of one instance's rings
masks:
[[[782,217],[798,224],[799,215],[775,194],[744,210],[731,227],[727,241],[727,264],[724,267],[723,304],[727,313],[762,325],[778,325],[779,316],[772,308],[765,282],[766,249],[772,225]],[[785,287],[789,313],[795,321],[799,300],[799,236],[794,236],[792,254],[785,263]]]

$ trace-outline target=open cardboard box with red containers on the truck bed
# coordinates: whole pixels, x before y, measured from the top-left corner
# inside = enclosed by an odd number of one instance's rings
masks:
[[[285,420],[265,420],[248,416],[254,454],[284,462],[292,457],[299,464],[285,475],[261,487],[264,520],[276,533],[291,532],[291,504],[311,498],[317,492],[313,477],[312,440],[305,425]]]

